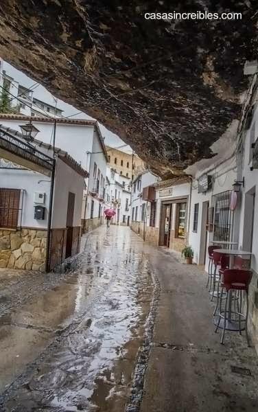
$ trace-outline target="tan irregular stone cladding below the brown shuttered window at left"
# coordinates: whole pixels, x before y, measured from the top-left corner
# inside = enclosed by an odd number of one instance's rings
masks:
[[[0,230],[0,268],[45,271],[47,230]]]

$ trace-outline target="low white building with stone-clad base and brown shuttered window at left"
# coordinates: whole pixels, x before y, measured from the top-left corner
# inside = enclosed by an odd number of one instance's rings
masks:
[[[67,152],[0,126],[0,267],[45,271],[80,251],[84,179]]]

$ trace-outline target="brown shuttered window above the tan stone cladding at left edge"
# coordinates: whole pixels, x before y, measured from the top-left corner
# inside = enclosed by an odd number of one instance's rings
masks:
[[[19,221],[21,190],[0,188],[0,227],[16,229]]]

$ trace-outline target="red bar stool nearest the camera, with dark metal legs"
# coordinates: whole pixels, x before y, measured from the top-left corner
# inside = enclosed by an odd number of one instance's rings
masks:
[[[241,334],[241,331],[244,329],[246,330],[246,341],[249,346],[249,338],[248,338],[248,331],[247,331],[247,322],[248,322],[248,287],[250,284],[250,281],[252,279],[253,273],[251,271],[243,271],[239,269],[226,269],[224,270],[224,273],[222,275],[221,279],[221,286],[222,286],[222,292],[220,293],[220,312],[219,312],[219,319],[217,323],[217,328],[215,332],[218,331],[218,328],[220,327],[220,321],[221,319],[224,319],[224,326],[223,326],[223,332],[222,332],[222,337],[220,339],[220,343],[224,343],[224,334],[225,330],[232,330],[235,332],[239,332]],[[225,308],[222,310],[222,293],[226,290],[226,303],[225,303]],[[237,301],[237,310],[233,311],[231,306],[232,306],[232,292],[239,293],[239,300],[240,304]],[[242,293],[245,293],[246,295],[246,313],[242,313]],[[234,299],[235,300],[235,299]],[[235,316],[235,319],[232,319],[232,315]],[[237,320],[238,318],[238,320]],[[244,321],[244,328],[242,328],[242,322]],[[231,324],[231,328],[226,327],[226,323]],[[235,323],[235,328],[232,327],[234,326]],[[238,325],[237,325],[238,323]]]

